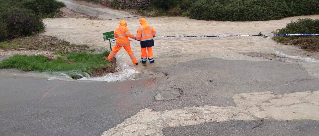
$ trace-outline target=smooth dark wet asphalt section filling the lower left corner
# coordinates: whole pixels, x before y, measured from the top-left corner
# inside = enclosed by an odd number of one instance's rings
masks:
[[[0,135],[99,135],[152,103],[152,79],[70,82],[0,77]],[[147,82],[147,86],[140,84]]]

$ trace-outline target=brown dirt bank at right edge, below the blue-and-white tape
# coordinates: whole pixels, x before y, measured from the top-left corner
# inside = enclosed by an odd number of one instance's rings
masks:
[[[297,39],[290,39],[286,37],[273,37],[273,39],[279,43],[285,45],[295,45],[299,46],[302,49],[310,52],[317,52],[319,51],[319,37],[312,36],[312,37],[299,37]]]

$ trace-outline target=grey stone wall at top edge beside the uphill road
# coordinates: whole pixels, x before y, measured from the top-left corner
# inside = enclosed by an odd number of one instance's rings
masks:
[[[114,6],[114,0],[94,0],[103,5]],[[120,9],[147,9],[151,6],[150,0],[115,0],[115,7]]]

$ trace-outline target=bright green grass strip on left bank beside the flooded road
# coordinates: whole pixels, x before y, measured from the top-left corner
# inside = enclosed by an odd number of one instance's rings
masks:
[[[57,57],[48,58],[43,55],[13,55],[0,62],[0,68],[18,68],[31,71],[82,71],[90,72],[105,65],[111,65],[102,57],[108,56],[109,52],[102,54],[89,54],[86,52],[56,52],[67,59]]]

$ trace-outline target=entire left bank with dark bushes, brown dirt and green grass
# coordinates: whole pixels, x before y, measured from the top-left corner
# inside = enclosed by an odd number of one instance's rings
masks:
[[[62,2],[55,0],[0,0],[0,51],[33,50],[40,54],[48,51],[41,55],[13,55],[2,60],[0,68],[62,71],[75,79],[81,78],[73,74],[76,72],[89,73],[94,77],[114,72],[115,61],[105,60],[108,51],[92,54],[95,49],[89,50],[85,44],[70,44],[55,37],[32,36],[44,30],[42,18],[53,17],[56,9],[63,6]]]

